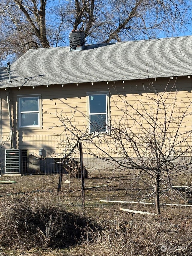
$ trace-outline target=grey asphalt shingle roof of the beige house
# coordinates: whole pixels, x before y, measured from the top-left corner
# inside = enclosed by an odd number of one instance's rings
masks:
[[[0,69],[0,87],[22,87],[192,75],[192,36],[32,49]]]

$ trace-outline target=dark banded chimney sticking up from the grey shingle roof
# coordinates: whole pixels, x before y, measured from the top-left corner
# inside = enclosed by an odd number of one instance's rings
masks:
[[[85,48],[85,32],[72,30],[69,34],[70,51],[82,51]]]

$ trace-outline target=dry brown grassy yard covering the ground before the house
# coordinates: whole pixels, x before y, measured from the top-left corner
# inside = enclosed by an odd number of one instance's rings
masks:
[[[85,181],[86,187],[109,186],[85,190],[84,211],[79,179],[64,175],[61,193],[57,192],[58,175],[11,179],[17,183],[0,184],[0,255],[188,256],[192,253],[191,207],[162,206],[161,216],[147,216],[120,212],[119,208],[155,212],[154,206],[99,202],[100,199],[140,200],[152,193],[148,178],[137,180],[116,173],[107,177],[90,176]],[[64,183],[65,179],[71,183]],[[186,180],[191,182],[185,176],[178,185],[185,185]],[[153,195],[147,200],[153,201]],[[187,200],[184,194],[162,189],[162,203]],[[162,251],[161,246],[167,246],[167,250]]]

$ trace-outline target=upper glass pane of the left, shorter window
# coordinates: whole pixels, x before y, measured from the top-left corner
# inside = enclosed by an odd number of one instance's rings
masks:
[[[39,111],[39,98],[20,98],[19,111]]]

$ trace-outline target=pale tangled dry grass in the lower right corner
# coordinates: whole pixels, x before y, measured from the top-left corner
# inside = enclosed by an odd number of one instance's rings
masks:
[[[190,236],[190,221],[170,222],[149,216],[124,216],[122,221],[118,216],[84,250],[88,256],[191,255]],[[161,245],[167,245],[166,254],[161,251]]]

